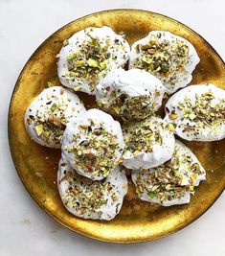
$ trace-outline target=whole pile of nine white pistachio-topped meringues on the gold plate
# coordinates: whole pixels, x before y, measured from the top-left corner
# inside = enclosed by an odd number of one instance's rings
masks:
[[[34,99],[25,127],[36,143],[61,149],[57,186],[67,210],[84,219],[115,218],[127,193],[125,169],[140,199],[190,202],[206,172],[174,134],[189,141],[225,137],[225,91],[185,87],[200,60],[191,43],[152,31],[130,49],[111,28],[87,28],[66,39],[56,57],[63,86]],[[86,110],[79,91],[93,95],[99,109]],[[162,119],[157,111],[167,98]]]

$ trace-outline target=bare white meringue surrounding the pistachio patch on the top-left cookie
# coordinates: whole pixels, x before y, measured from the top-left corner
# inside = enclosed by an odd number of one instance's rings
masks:
[[[87,34],[90,34],[90,36]],[[67,58],[71,54],[79,53],[79,45],[82,45],[83,41],[90,41],[91,38],[98,38],[100,40],[101,48],[105,46],[106,40],[109,40],[112,44],[112,47],[108,49],[108,53],[111,57],[106,60],[106,69],[99,73],[98,81],[100,81],[111,69],[124,66],[125,62],[129,58],[130,52],[129,44],[124,40],[123,36],[117,35],[111,28],[106,26],[102,28],[87,28],[72,35],[68,39],[68,45],[63,46],[59,53],[57,75],[63,85],[74,89],[76,89],[76,86],[80,85],[79,90],[88,94],[94,94],[94,91],[90,88],[89,79],[81,80],[79,78],[71,78],[68,75],[69,70]],[[96,81],[96,83],[98,83],[98,81]]]

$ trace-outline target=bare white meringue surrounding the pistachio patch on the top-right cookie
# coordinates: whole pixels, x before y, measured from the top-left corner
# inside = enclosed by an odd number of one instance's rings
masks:
[[[130,52],[130,59],[129,59],[129,67],[130,68],[138,67],[137,58],[139,58],[141,54],[137,51],[137,49],[136,49],[137,46],[145,45],[146,43],[149,42],[151,35],[157,36],[159,34],[161,35],[161,37],[158,38],[160,43],[167,40],[169,42],[169,44],[172,44],[174,41],[178,40],[178,41],[185,42],[189,47],[188,64],[186,66],[184,66],[184,72],[182,72],[182,73],[177,72],[177,74],[175,75],[176,82],[171,82],[170,76],[165,78],[165,77],[162,77],[160,75],[160,73],[155,74],[155,76],[157,76],[158,79],[160,79],[163,82],[164,86],[167,88],[167,92],[169,94],[171,94],[171,93],[177,91],[179,88],[185,87],[187,84],[190,83],[190,81],[192,80],[191,73],[193,72],[195,66],[198,64],[198,62],[200,60],[194,47],[185,38],[178,36],[178,35],[173,35],[169,32],[165,32],[165,31],[151,31],[145,38],[142,38],[141,40],[136,41],[132,45],[131,52]],[[171,58],[169,58],[169,60],[171,61]],[[173,62],[170,62],[169,66],[172,66],[173,64],[174,64]]]

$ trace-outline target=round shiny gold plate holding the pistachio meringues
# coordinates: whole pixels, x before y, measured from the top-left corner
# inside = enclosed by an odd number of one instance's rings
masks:
[[[212,82],[225,88],[225,65],[214,49],[200,35],[185,25],[153,12],[114,10],[79,18],[58,30],[43,42],[28,60],[11,97],[9,140],[15,168],[26,189],[38,205],[56,221],[84,236],[114,243],[137,243],[165,237],[201,216],[219,197],[225,187],[225,147],[219,142],[185,142],[207,170],[207,181],[201,182],[191,203],[162,207],[136,198],[130,183],[120,214],[113,221],[85,221],[74,217],[63,207],[56,188],[59,150],[35,144],[23,124],[24,112],[47,81],[57,84],[56,54],[62,41],[90,27],[110,26],[125,33],[130,44],[152,30],[165,30],[181,35],[195,46],[201,61],[193,73],[194,83]],[[89,107],[93,97],[79,93]]]

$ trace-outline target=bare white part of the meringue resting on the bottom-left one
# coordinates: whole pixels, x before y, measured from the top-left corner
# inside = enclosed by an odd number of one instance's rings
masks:
[[[94,125],[92,125],[94,123]],[[89,109],[83,115],[79,116],[76,122],[71,122],[68,124],[67,128],[62,137],[62,147],[61,150],[65,154],[71,166],[79,173],[79,175],[84,175],[91,179],[101,180],[105,177],[101,173],[95,174],[94,172],[79,169],[75,164],[75,159],[77,155],[73,152],[73,148],[81,144],[83,141],[88,140],[88,135],[81,134],[78,141],[74,140],[74,136],[80,133],[80,126],[90,126],[94,128],[104,128],[105,131],[115,136],[118,147],[114,151],[114,162],[115,166],[108,169],[108,174],[113,171],[116,167],[116,163],[120,160],[123,150],[124,150],[124,137],[122,133],[122,128],[119,122],[115,121],[109,114],[99,110],[99,109]],[[103,136],[103,135],[102,135]],[[100,136],[100,139],[102,138]],[[72,150],[72,151],[71,151]],[[103,155],[99,155],[96,149],[91,149],[92,154],[101,159]],[[107,160],[107,159],[104,159]]]

